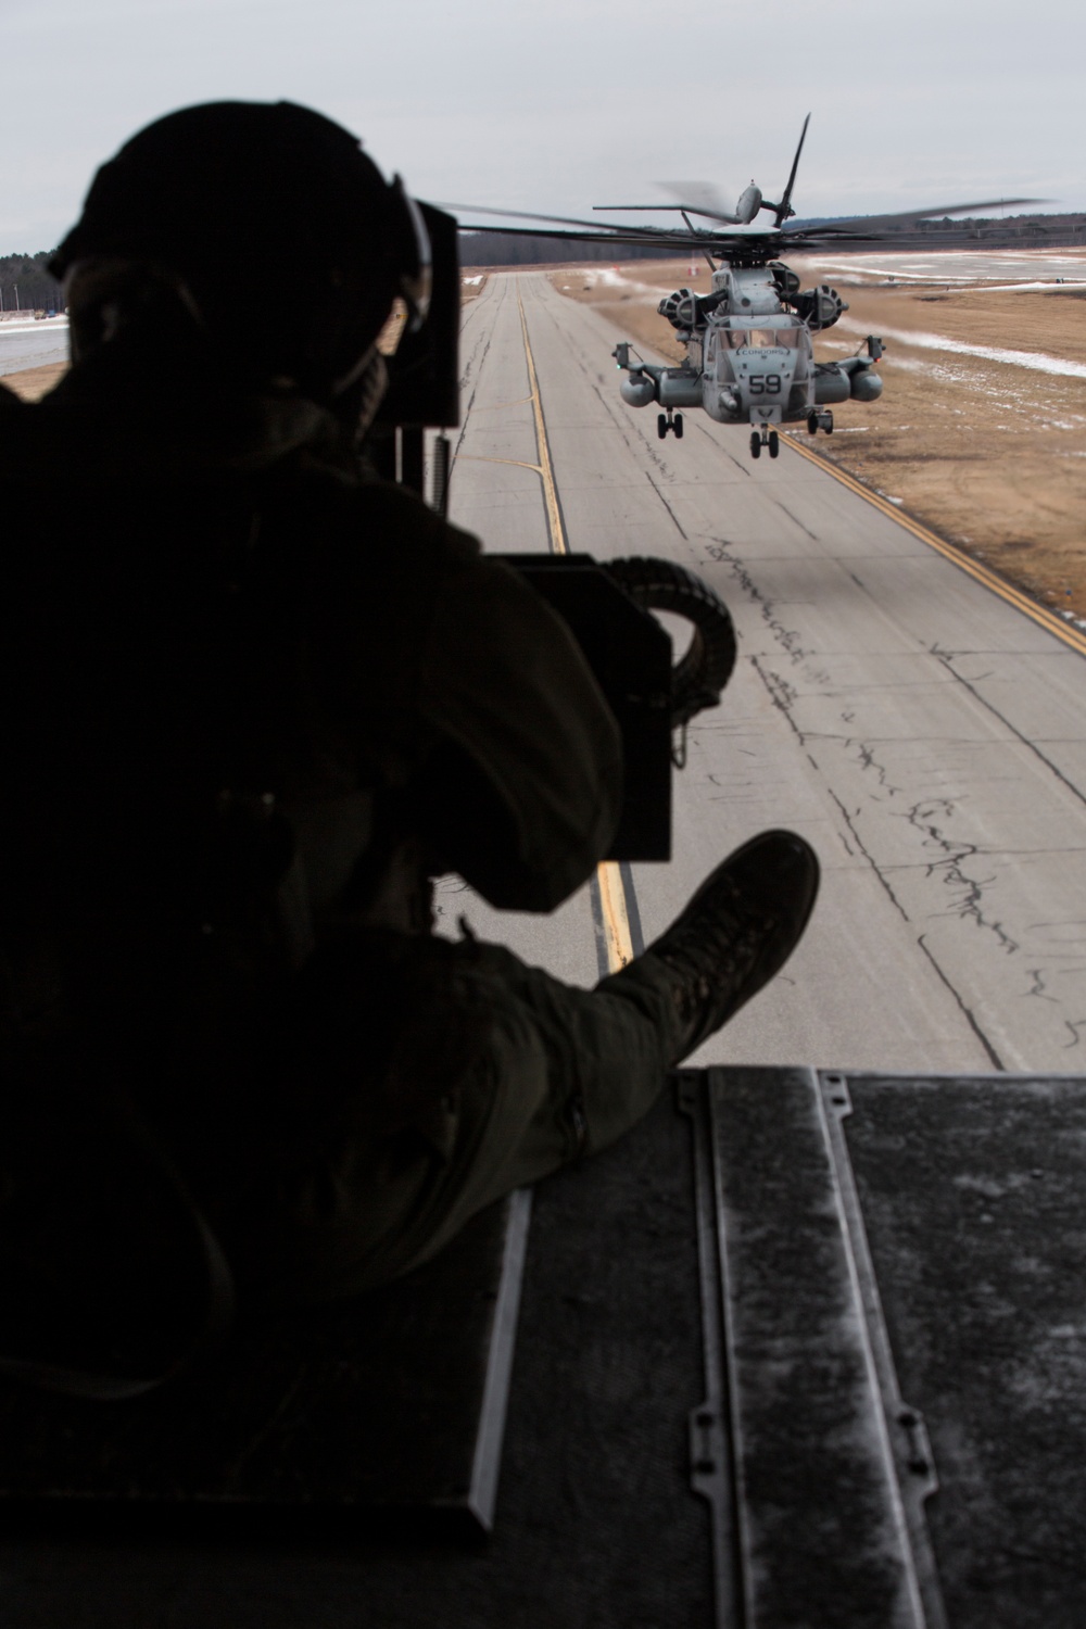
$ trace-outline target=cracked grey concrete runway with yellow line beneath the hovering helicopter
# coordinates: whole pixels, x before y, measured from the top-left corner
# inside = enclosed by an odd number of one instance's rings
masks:
[[[803,832],[824,881],[785,973],[697,1062],[1081,1070],[1083,655],[798,451],[754,463],[700,412],[659,441],[619,397],[617,337],[541,274],[488,280],[464,316],[451,516],[487,549],[550,546],[542,424],[568,547],[679,560],[736,619],[736,674],[676,775],[674,858],[632,867],[633,940],[767,826]],[[464,912],[585,986],[606,964],[591,889],[550,919],[458,889],[449,929]]]

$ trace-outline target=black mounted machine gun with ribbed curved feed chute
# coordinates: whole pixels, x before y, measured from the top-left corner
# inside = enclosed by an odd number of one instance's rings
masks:
[[[433,256],[427,321],[404,332],[386,357],[389,391],[366,438],[366,453],[386,481],[428,497],[448,512],[451,441],[459,424],[461,283],[458,226],[422,204]],[[425,432],[433,440],[427,494]],[[622,731],[625,803],[609,860],[671,858],[671,769],[685,759],[685,727],[715,707],[736,661],[726,606],[694,572],[671,560],[596,562],[588,554],[503,554],[563,617],[581,647]],[[651,614],[666,611],[692,626],[672,665],[671,639]]]

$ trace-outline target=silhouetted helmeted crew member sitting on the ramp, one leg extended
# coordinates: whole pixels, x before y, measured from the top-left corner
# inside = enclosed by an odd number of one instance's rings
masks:
[[[124,1082],[243,1293],[345,1295],[643,1114],[817,865],[754,839],[591,992],[433,938],[428,873],[578,888],[622,766],[565,624],[361,469],[417,212],[319,114],[221,103],[134,137],[54,269],[73,367],[3,414],[8,1064]]]

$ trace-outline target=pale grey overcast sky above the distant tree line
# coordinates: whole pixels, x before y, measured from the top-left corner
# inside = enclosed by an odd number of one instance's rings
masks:
[[[1081,0],[0,0],[0,254],[143,124],[308,103],[431,200],[583,213],[658,178],[858,213],[1086,207]]]

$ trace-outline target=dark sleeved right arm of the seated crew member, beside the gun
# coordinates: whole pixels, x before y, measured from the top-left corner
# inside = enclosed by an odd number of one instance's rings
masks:
[[[490,904],[550,911],[607,852],[619,727],[565,622],[511,567],[399,489],[355,494],[339,689],[425,784],[443,858]],[[361,572],[361,577],[355,573]],[[339,575],[339,573],[337,573]],[[326,578],[327,582],[327,578]],[[347,617],[347,622],[342,619]]]

